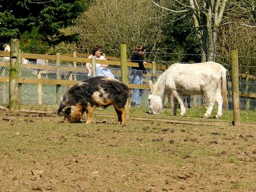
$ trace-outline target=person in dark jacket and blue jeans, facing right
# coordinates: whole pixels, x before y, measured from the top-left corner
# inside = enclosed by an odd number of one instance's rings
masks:
[[[135,47],[135,52],[132,55],[131,62],[139,64],[139,67],[132,67],[131,71],[131,81],[133,84],[143,84],[142,78],[146,77],[146,69],[143,61],[143,57],[146,53],[146,48],[143,45]],[[134,89],[132,95],[132,106],[139,107],[142,97],[142,89]]]

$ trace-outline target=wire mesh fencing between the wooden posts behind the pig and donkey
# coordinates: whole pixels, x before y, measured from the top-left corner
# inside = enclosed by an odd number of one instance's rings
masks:
[[[9,62],[7,60],[1,60],[1,62]],[[58,95],[63,96],[67,89],[70,87],[69,85],[57,85],[57,84],[40,84],[39,80],[74,80],[74,81],[83,81],[90,77],[88,77],[87,70],[84,66],[84,63],[76,63],[77,70],[73,71],[72,67],[74,66],[73,62],[61,62],[59,67],[65,66],[65,70],[59,70],[58,73],[54,68],[56,68],[56,61],[49,60],[48,63],[30,61],[30,64],[33,64],[33,68],[23,67],[24,64],[20,63],[19,65],[19,78],[23,79],[34,79],[38,81],[38,83],[19,83],[19,103],[21,105],[42,105],[42,106],[54,106],[57,107],[59,105]],[[41,65],[46,66],[46,69],[40,69]],[[70,67],[70,69],[69,69]],[[121,81],[121,68],[117,65],[109,65],[110,70],[112,71],[115,79]],[[128,68],[129,71],[129,83],[132,84],[132,69]],[[153,71],[152,68],[147,68],[147,76],[142,78],[142,84],[148,85],[148,82],[156,81],[157,78],[163,73],[164,70],[157,69],[155,72],[155,76],[152,76]],[[9,77],[10,69],[9,67],[1,67],[0,68],[0,77]],[[59,76],[59,77],[58,77]],[[227,76],[227,89],[228,91],[232,91],[231,85],[231,76]],[[253,78],[240,78],[239,79],[239,87],[241,93],[240,96],[240,109],[245,111],[247,115],[247,120],[250,122],[256,122],[255,119],[255,111],[256,111],[256,98],[250,97],[250,95],[255,94],[256,92],[256,82],[255,77]],[[8,82],[0,82],[0,104],[8,105],[9,103],[9,83]],[[133,98],[134,89],[130,91],[130,98]],[[148,111],[148,95],[150,94],[150,89],[144,88],[140,89],[141,94],[141,102],[139,107],[133,107],[134,113],[145,113]],[[166,95],[167,97],[167,95]],[[202,97],[200,95],[195,95],[190,98],[190,100],[186,97],[183,97],[185,102],[186,115],[190,117],[199,116],[202,117],[205,112],[205,107],[203,103]],[[162,110],[161,114],[170,115],[172,112],[172,101],[165,101],[165,108]],[[232,95],[228,94],[228,110],[223,111],[223,117],[228,119],[228,121],[232,121]],[[103,110],[101,108],[97,110]],[[112,107],[104,109],[106,111],[114,110]],[[179,110],[177,114],[179,114]],[[217,111],[214,108],[212,114]],[[254,117],[253,117],[254,116]]]

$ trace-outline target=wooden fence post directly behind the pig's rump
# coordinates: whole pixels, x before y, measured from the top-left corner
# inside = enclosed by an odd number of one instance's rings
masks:
[[[125,85],[128,85],[128,68],[127,68],[127,52],[126,52],[126,44],[120,45],[120,63],[121,63],[121,79]],[[126,109],[126,118],[130,119],[130,111],[129,111],[130,102],[127,100],[125,105]]]

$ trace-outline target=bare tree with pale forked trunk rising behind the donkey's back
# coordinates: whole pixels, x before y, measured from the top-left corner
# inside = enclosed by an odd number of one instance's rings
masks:
[[[189,12],[192,14],[202,62],[215,61],[218,31],[221,26],[233,23],[230,18],[234,15],[250,20],[250,25],[243,22],[237,22],[237,24],[255,28],[255,2],[253,0],[173,0],[170,8],[166,7],[168,1],[162,0],[158,3],[151,1],[158,7],[173,13]]]

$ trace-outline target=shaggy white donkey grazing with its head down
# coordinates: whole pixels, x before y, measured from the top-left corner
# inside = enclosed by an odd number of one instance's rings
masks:
[[[204,95],[208,108],[205,117],[209,117],[215,102],[218,104],[216,118],[222,116],[222,88],[226,93],[227,70],[219,63],[204,62],[195,64],[175,63],[171,65],[160,77],[155,85],[150,81],[151,94],[148,102],[152,114],[159,114],[163,108],[166,95],[173,93],[173,115],[177,113],[178,102],[181,108],[181,116],[186,109],[181,99],[182,95]]]

